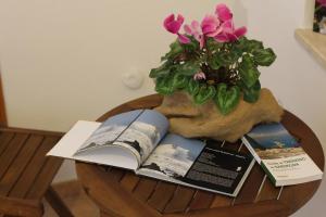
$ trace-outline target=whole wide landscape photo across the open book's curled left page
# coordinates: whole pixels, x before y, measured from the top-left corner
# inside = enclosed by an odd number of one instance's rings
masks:
[[[166,133],[167,127],[167,119],[152,110],[122,113],[105,120],[76,154],[106,145],[121,145],[131,150],[141,162]]]

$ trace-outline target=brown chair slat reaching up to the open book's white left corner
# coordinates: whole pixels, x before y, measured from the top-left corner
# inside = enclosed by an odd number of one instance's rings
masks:
[[[46,153],[50,151],[58,139],[58,137],[46,137],[43,139],[33,159],[29,162],[22,176],[17,180],[16,184],[9,193],[9,196],[21,199],[25,197],[46,163]]]

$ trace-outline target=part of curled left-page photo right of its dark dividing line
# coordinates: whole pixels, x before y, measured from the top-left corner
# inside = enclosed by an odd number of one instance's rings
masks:
[[[137,119],[114,141],[114,144],[131,148],[140,163],[145,162],[166,135],[168,120],[156,111],[145,110]]]

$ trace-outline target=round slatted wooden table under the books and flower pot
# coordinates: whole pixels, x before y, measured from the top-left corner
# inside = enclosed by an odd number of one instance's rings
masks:
[[[140,98],[113,108],[99,120],[130,110],[154,107],[161,101],[158,94]],[[301,140],[303,149],[324,170],[323,149],[314,132],[289,112],[285,113],[283,124]],[[289,216],[302,207],[321,184],[321,181],[313,181],[275,188],[255,164],[239,195],[233,199],[138,177],[130,171],[108,166],[76,163],[76,170],[85,191],[99,206],[101,216]]]

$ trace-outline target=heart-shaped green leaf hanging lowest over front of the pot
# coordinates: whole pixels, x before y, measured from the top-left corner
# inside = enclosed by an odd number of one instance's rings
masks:
[[[226,84],[220,84],[217,86],[215,103],[223,115],[227,115],[228,113],[233,112],[239,102],[240,89],[237,86],[233,86],[229,89],[227,88]]]

